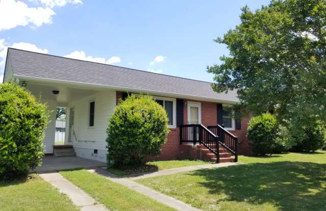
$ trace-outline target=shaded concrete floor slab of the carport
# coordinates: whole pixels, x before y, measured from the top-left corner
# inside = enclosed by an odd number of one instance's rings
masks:
[[[65,169],[94,168],[102,166],[106,166],[106,163],[80,157],[44,156],[42,159],[42,165],[36,167],[35,171],[43,173]]]

